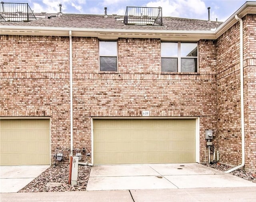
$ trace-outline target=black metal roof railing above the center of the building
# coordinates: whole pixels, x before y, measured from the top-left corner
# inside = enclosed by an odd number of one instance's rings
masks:
[[[162,8],[127,6],[124,16],[124,24],[162,26]]]

